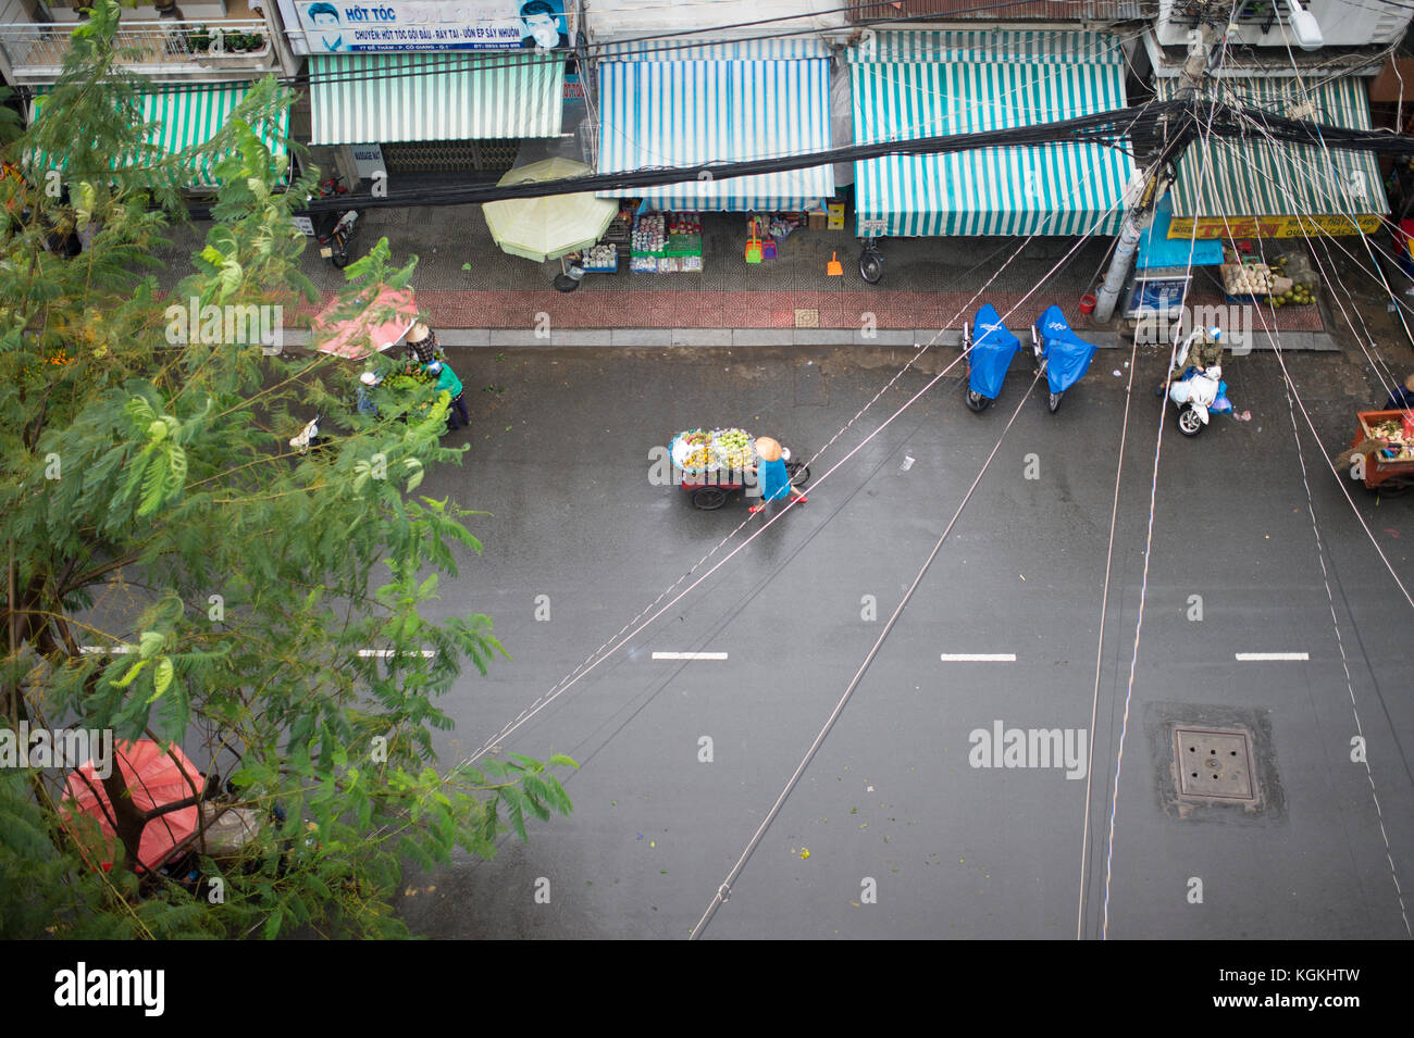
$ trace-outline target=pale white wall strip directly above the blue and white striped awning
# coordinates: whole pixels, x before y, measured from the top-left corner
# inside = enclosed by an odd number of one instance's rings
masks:
[[[715,30],[742,21],[790,18],[724,35],[843,28],[843,0],[584,0],[584,23],[594,40],[648,32]],[[829,13],[826,13],[829,11]],[[793,17],[807,16],[807,17]],[[715,35],[715,32],[714,32]]]

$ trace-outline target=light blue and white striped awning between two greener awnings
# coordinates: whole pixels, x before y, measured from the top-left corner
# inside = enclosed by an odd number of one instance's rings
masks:
[[[824,151],[830,147],[830,62],[724,56],[605,61],[600,65],[600,109],[601,174]],[[820,165],[600,193],[643,198],[650,208],[686,212],[807,209],[834,195],[834,171]]]

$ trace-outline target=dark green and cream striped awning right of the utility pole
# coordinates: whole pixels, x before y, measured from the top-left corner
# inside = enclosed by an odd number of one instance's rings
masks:
[[[1352,130],[1370,129],[1365,80],[1356,76],[1305,89],[1294,78],[1217,82],[1226,100],[1247,107]],[[1158,83],[1159,97],[1176,96],[1181,89],[1176,79]],[[1247,130],[1240,138],[1196,140],[1178,160],[1175,223],[1192,217],[1226,217],[1229,225],[1264,216],[1359,217],[1390,210],[1372,153],[1274,141],[1264,134],[1260,116]],[[1233,226],[1234,236],[1249,233]],[[1355,233],[1353,225],[1348,233]]]

